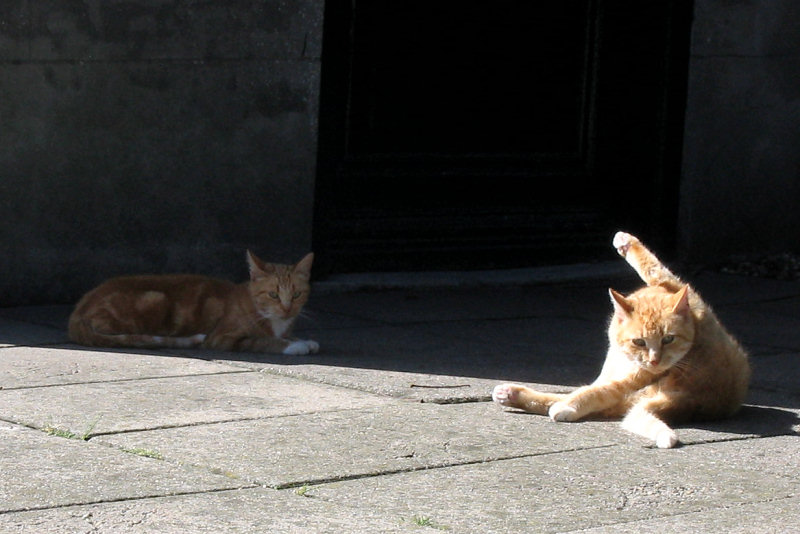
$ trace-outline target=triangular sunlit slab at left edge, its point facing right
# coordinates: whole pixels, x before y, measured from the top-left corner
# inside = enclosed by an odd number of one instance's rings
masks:
[[[14,510],[245,485],[209,471],[0,423],[0,517]]]

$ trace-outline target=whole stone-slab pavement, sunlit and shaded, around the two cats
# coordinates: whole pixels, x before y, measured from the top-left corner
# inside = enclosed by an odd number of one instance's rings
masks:
[[[800,532],[800,283],[694,277],[752,390],[658,450],[490,402],[599,370],[637,281],[566,278],[318,284],[309,357],[89,350],[67,306],[0,309],[0,532]]]

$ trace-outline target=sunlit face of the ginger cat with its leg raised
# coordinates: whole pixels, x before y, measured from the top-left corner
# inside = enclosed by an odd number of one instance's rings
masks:
[[[646,287],[623,297],[611,290],[611,343],[647,371],[658,373],[674,366],[694,342],[687,291],[670,293],[661,287]]]

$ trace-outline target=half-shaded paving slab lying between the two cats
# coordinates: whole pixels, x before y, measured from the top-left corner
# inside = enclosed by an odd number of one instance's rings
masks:
[[[606,343],[602,328],[566,318],[381,326],[311,337],[324,339],[319,354],[200,354],[248,369],[381,395],[463,402],[488,400],[502,381],[559,384],[562,390],[564,385],[588,383],[599,372]]]

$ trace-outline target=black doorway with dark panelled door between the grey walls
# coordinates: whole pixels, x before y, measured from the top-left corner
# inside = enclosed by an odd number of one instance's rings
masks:
[[[690,19],[678,0],[327,0],[321,269],[591,261],[617,228],[668,247]]]

